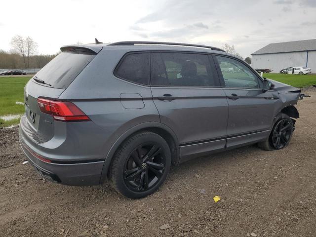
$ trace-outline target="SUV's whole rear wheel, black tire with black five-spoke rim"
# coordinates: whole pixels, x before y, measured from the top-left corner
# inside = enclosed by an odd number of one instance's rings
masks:
[[[171,152],[166,141],[156,133],[144,131],[120,145],[110,166],[110,180],[125,197],[146,197],[165,181],[170,166]]]

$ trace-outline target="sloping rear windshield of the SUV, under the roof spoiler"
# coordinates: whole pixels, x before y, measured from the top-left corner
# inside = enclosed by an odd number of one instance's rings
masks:
[[[46,64],[36,77],[51,84],[51,87],[66,89],[95,55],[85,52],[62,52]]]

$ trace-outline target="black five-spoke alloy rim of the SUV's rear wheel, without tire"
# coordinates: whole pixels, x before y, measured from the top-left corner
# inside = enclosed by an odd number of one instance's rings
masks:
[[[165,155],[160,145],[148,143],[138,146],[125,163],[126,186],[134,192],[149,190],[161,179],[165,163]]]

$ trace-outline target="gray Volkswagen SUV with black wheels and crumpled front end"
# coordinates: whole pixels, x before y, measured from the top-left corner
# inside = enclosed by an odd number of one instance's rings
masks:
[[[26,84],[19,140],[52,182],[109,179],[139,198],[191,158],[253,143],[286,147],[299,95],[211,46],[67,45]]]

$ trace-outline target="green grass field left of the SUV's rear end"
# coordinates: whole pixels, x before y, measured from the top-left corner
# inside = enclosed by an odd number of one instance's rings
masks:
[[[23,105],[16,105],[15,102],[23,102],[23,88],[29,77],[0,77],[0,116],[23,114]],[[19,119],[5,121],[0,119],[0,127],[17,124]]]

